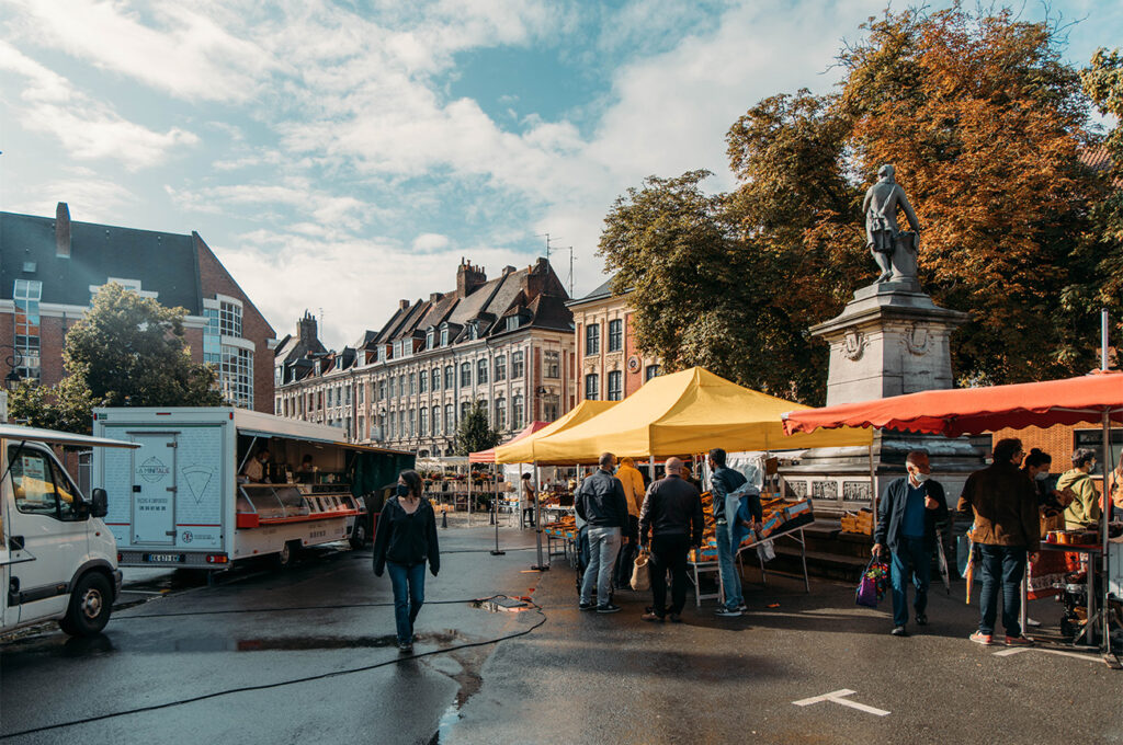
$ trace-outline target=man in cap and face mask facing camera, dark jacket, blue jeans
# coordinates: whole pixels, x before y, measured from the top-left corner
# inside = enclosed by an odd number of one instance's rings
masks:
[[[913,450],[905,458],[909,476],[885,487],[877,508],[874,555],[883,557],[888,546],[889,578],[893,583],[893,635],[909,636],[910,574],[916,588],[913,607],[916,625],[926,626],[928,586],[932,579],[932,551],[935,550],[935,523],[948,517],[948,500],[939,481],[929,478],[932,467],[928,452]]]

